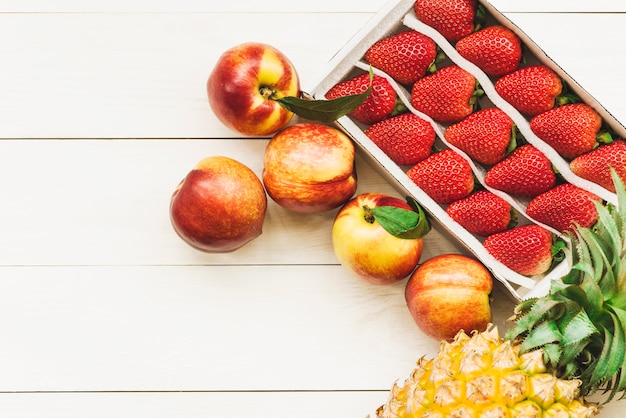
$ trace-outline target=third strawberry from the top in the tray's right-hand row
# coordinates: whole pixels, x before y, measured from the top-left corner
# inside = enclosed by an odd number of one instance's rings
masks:
[[[502,76],[496,81],[495,89],[518,111],[534,116],[554,107],[563,84],[549,67],[533,65]]]

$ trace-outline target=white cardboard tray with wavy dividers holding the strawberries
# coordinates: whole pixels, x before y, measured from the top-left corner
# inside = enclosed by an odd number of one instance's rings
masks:
[[[406,31],[409,29],[416,30],[435,41],[440,50],[445,54],[445,60],[438,64],[438,68],[446,65],[456,64],[459,67],[470,72],[485,94],[481,98],[481,108],[498,107],[505,111],[513,120],[519,132],[525,141],[534,145],[545,156],[547,156],[554,168],[562,176],[564,182],[572,183],[578,187],[588,190],[605,202],[616,203],[616,196],[611,191],[600,185],[576,176],[570,169],[569,161],[559,154],[553,147],[539,139],[529,126],[528,115],[523,115],[516,108],[503,100],[494,89],[496,78],[488,76],[479,67],[464,59],[455,49],[454,44],[448,42],[440,32],[433,27],[426,25],[420,21],[414,10],[414,0],[394,0],[381,9],[368,24],[363,27],[332,59],[328,65],[325,74],[322,75],[321,81],[310,92],[316,99],[325,98],[325,94],[337,83],[351,79],[361,73],[367,73],[370,70],[370,64],[365,60],[365,53],[368,48],[378,40],[393,34]],[[513,22],[502,15],[490,3],[479,0],[479,5],[486,11],[484,26],[502,25],[513,31],[525,46],[524,58],[520,63],[520,67],[530,66],[534,64],[543,64],[550,67],[556,72],[568,89],[575,93],[582,102],[590,105],[601,116],[604,126],[608,126],[614,135],[619,138],[626,138],[626,128],[618,122],[600,103],[598,103],[590,94],[588,94],[575,80],[573,80],[567,72],[559,67],[550,57],[548,57],[541,48],[536,45],[520,28]],[[499,190],[484,184],[484,177],[488,167],[476,163],[466,153],[452,146],[444,139],[446,126],[437,123],[423,113],[416,111],[411,106],[410,86],[401,85],[391,76],[384,72],[373,68],[376,75],[384,76],[393,86],[399,98],[407,105],[409,111],[428,120],[435,128],[437,134],[435,145],[438,149],[452,148],[459,152],[469,161],[474,172],[477,182],[480,182],[486,189],[505,198],[513,208],[518,212],[518,224],[535,223],[546,227],[551,232],[559,236],[566,243],[568,238],[565,234],[547,226],[536,222],[534,219],[526,215],[525,209],[528,204],[527,199],[520,199],[511,194],[502,193]],[[356,121],[351,116],[344,116],[337,121],[337,125],[344,130],[354,140],[361,155],[374,166],[391,184],[393,184],[401,193],[412,196],[417,202],[428,212],[433,227],[449,236],[454,240],[461,249],[469,255],[479,259],[487,266],[497,281],[506,289],[514,300],[532,296],[542,296],[547,293],[549,283],[552,278],[560,277],[567,273],[570,264],[567,259],[554,263],[551,269],[543,274],[535,276],[527,276],[519,274],[512,269],[506,267],[497,261],[491,254],[486,251],[483,246],[484,237],[470,233],[459,223],[455,222],[447,213],[446,205],[435,202],[428,194],[420,189],[408,176],[407,170],[410,167],[400,166],[392,161],[381,149],[365,134],[367,125]]]

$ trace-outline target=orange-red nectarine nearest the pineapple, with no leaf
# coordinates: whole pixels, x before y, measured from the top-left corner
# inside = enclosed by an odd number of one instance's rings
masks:
[[[438,340],[452,340],[461,329],[484,331],[491,322],[493,278],[474,258],[441,254],[420,264],[405,288],[417,326]]]

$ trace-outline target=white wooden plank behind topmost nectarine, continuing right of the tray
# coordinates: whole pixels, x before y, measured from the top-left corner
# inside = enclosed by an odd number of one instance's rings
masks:
[[[510,17],[626,120],[619,93],[626,91],[619,72],[626,45],[613,41],[621,39],[626,14]],[[206,99],[206,79],[223,51],[250,40],[273,44],[292,59],[307,90],[368,19],[279,13],[271,24],[281,30],[268,31],[256,13],[0,14],[0,137],[239,136],[222,126]],[[576,30],[559,35],[555,27]],[[285,36],[303,28],[308,35]],[[597,62],[604,61],[600,70]]]

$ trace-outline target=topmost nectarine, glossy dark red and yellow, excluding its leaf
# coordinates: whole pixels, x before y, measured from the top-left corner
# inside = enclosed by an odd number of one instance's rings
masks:
[[[297,97],[300,82],[283,53],[248,42],[219,57],[207,80],[207,94],[211,109],[230,129],[249,136],[272,135],[293,116],[277,99]]]

